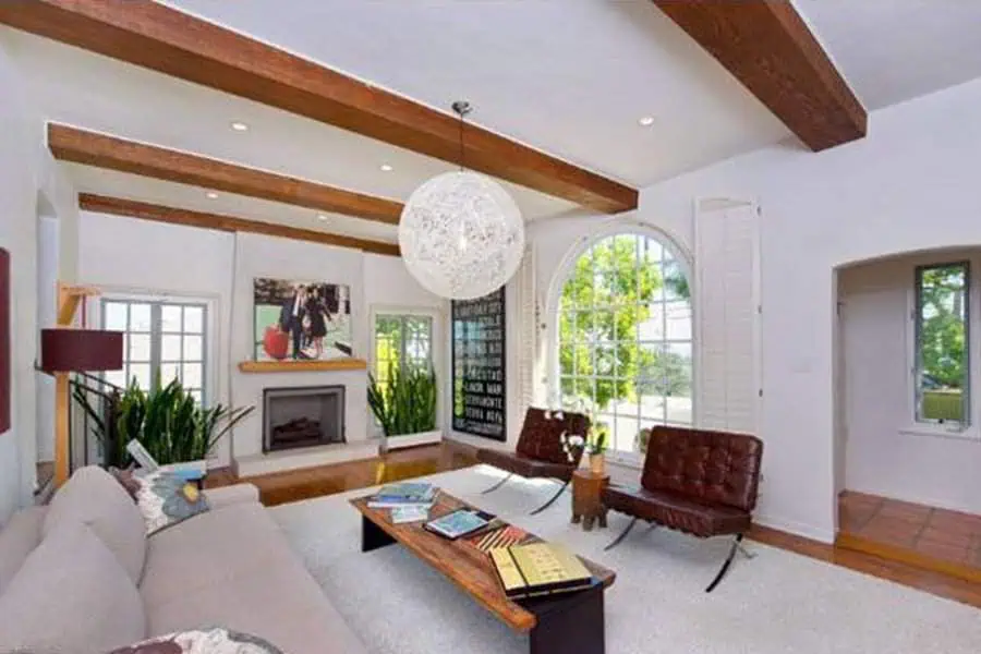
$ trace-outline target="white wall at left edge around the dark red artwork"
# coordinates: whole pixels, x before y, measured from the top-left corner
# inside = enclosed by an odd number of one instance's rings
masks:
[[[60,274],[75,277],[75,193],[45,147],[44,124],[24,95],[20,73],[0,41],[0,246],[11,254],[12,428],[0,434],[0,522],[33,500],[37,440],[34,360],[37,332],[38,197],[61,227]]]

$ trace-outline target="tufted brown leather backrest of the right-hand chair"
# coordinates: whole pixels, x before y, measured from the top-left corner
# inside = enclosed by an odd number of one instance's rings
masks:
[[[702,505],[742,511],[756,506],[763,441],[748,434],[656,426],[641,485]]]

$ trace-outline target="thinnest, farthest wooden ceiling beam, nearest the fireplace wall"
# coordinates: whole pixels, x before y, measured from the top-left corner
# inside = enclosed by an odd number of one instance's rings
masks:
[[[204,211],[178,209],[133,199],[123,199],[121,197],[80,193],[78,207],[87,211],[99,211],[129,218],[142,218],[143,220],[154,220],[156,222],[186,225],[190,227],[201,227],[228,232],[252,232],[269,237],[280,237],[296,241],[313,241],[314,243],[337,245],[338,247],[351,247],[353,250],[363,250],[364,252],[399,256],[399,246],[395,243],[356,239],[354,237],[331,234],[312,229],[300,229],[298,227],[263,222],[261,220],[247,220],[245,218],[235,218],[234,216],[225,216],[221,214],[206,214]]]

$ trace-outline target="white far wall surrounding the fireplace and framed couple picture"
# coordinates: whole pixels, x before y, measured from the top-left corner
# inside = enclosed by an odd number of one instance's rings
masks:
[[[206,299],[218,316],[210,362],[216,401],[257,409],[234,429],[234,456],[262,452],[264,387],[343,384],[347,386],[347,437],[368,437],[365,372],[243,374],[238,364],[253,356],[252,280],[324,280],[351,287],[354,355],[367,358],[372,306],[439,308],[441,302],[422,289],[397,257],[365,254],[317,243],[261,234],[205,230],[83,213],[81,277],[108,292]],[[230,461],[229,443],[217,448],[220,463]]]

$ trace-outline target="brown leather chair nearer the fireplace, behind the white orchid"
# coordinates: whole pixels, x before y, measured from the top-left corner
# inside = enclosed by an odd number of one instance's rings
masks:
[[[498,489],[514,474],[526,479],[550,479],[562,482],[562,486],[552,499],[532,511],[532,514],[544,511],[558,499],[572,481],[572,473],[582,458],[580,449],[573,452],[572,461],[569,461],[568,455],[562,450],[562,433],[585,438],[589,431],[590,419],[581,413],[529,408],[524,414],[521,435],[518,437],[517,451],[506,452],[493,448],[477,450],[477,461],[510,473],[484,491],[484,494]]]

